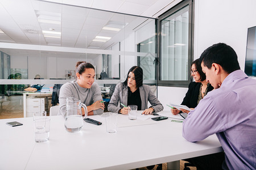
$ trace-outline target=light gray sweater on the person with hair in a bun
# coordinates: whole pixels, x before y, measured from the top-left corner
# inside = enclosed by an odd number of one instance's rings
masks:
[[[75,97],[81,100],[86,106],[92,105],[97,100],[102,100],[101,90],[97,83],[93,83],[91,88],[80,87],[76,80],[63,84],[60,88],[60,114],[65,116],[66,114],[66,99],[67,97]],[[93,114],[102,114],[102,109],[93,111]]]

